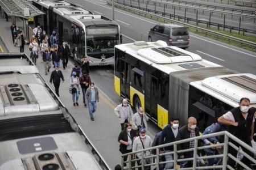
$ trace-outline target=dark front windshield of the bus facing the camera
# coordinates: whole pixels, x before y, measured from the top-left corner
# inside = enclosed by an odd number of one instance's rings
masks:
[[[119,44],[118,28],[86,29],[86,53],[90,57],[114,56],[114,46]]]

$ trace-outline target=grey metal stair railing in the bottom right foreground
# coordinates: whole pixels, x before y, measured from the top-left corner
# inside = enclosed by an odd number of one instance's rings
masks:
[[[221,136],[224,135],[224,143],[218,143],[215,145],[210,145],[210,146],[200,146],[198,147],[197,144],[199,142],[201,142],[202,139],[204,138],[210,138],[210,137],[217,137],[217,136]],[[194,148],[188,148],[185,150],[177,150],[177,146],[181,145],[182,143],[187,143],[187,142],[191,142],[194,141],[195,142],[195,147]],[[199,137],[195,137],[195,138],[188,138],[188,139],[184,139],[181,141],[176,141],[176,142],[172,142],[172,143],[167,143],[165,145],[160,145],[160,146],[155,146],[155,147],[150,147],[150,148],[145,148],[143,150],[139,150],[139,151],[135,151],[135,152],[130,152],[128,154],[123,154],[122,155],[122,169],[133,169],[133,168],[139,168],[141,167],[142,170],[145,167],[152,167],[152,168],[156,168],[159,169],[159,165],[160,164],[166,164],[166,163],[173,163],[174,164],[174,168],[173,169],[180,169],[180,170],[188,170],[188,169],[234,169],[234,167],[231,167],[227,162],[228,159],[233,159],[237,164],[241,165],[241,167],[246,168],[247,170],[251,170],[250,167],[247,167],[247,165],[243,164],[241,162],[240,159],[237,158],[237,155],[231,155],[229,154],[229,148],[232,147],[235,150],[237,150],[238,152],[240,152],[240,154],[242,154],[243,156],[245,156],[247,159],[249,159],[252,164],[256,164],[256,160],[249,154],[247,154],[246,152],[242,151],[241,148],[238,148],[236,145],[234,145],[234,143],[232,141],[236,141],[237,143],[239,143],[239,145],[243,148],[245,148],[246,150],[248,150],[250,152],[250,154],[256,154],[256,150],[254,150],[254,148],[252,148],[251,146],[247,145],[245,142],[241,141],[240,139],[234,137],[234,135],[230,134],[228,131],[220,131],[217,133],[213,133],[213,134],[208,134],[208,135],[203,135],[203,136],[199,136]],[[168,147],[168,146],[173,146],[174,150],[172,152],[167,152],[164,154],[160,154],[160,149],[164,148],[164,147]],[[222,147],[223,148],[223,153],[222,154],[218,154],[218,155],[211,155],[211,156],[205,156],[205,155],[198,155],[198,151],[202,151],[205,148],[212,148],[212,147]],[[145,152],[146,151],[152,151],[152,150],[156,150],[156,155],[150,155],[150,156],[145,156]],[[182,152],[193,152],[193,156],[192,158],[184,158],[184,159],[180,159],[179,158],[179,154]],[[141,158],[137,158],[137,159],[132,159],[134,154],[137,153],[141,153],[142,157]],[[159,161],[159,156],[164,156],[166,154],[173,154],[173,160],[171,161],[164,161],[161,162]],[[128,159],[126,162],[124,162],[123,158],[124,156],[128,156]],[[220,158],[222,161],[217,164],[217,165],[212,165],[212,166],[200,166],[197,165],[197,160],[207,160],[210,158]],[[146,159],[154,159],[155,162],[150,162],[147,163]],[[141,161],[141,165],[134,165],[132,166],[132,162],[137,162],[137,161]],[[191,168],[179,168],[177,165],[180,162],[184,162],[184,161],[192,161],[193,162],[193,166]],[[129,166],[124,167],[124,164],[129,163]]]

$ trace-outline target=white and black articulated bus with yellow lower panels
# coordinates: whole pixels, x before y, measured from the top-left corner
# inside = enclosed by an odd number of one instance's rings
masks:
[[[256,106],[256,76],[240,74],[166,42],[135,41],[115,46],[114,89],[160,128],[172,117],[197,118],[206,128],[238,107],[242,97]]]

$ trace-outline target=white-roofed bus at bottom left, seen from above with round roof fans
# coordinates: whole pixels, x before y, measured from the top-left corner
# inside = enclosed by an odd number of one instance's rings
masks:
[[[0,54],[0,169],[110,169],[26,54]]]

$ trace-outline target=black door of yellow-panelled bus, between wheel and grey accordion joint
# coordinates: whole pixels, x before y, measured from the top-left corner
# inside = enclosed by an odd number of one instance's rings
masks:
[[[156,121],[158,105],[158,79],[147,73],[145,78],[145,110]]]

